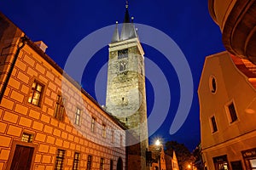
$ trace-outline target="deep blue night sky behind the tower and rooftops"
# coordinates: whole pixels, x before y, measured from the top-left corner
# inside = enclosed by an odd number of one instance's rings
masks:
[[[49,48],[46,50],[55,62],[64,68],[68,56],[73,48],[86,36],[102,27],[122,23],[125,15],[125,0],[99,1],[58,1],[58,0],[23,0],[0,1],[0,11],[19,26],[32,41],[44,41]],[[197,88],[199,85],[204,59],[207,55],[224,51],[219,27],[213,22],[208,13],[207,0],[130,0],[130,16],[134,16],[135,23],[152,26],[172,38],[183,52],[189,63],[194,82],[194,96],[189,116],[177,133],[170,134],[169,130],[179,105],[180,82],[173,63],[169,62],[160,50],[143,44],[145,58],[150,59],[162,71],[168,82],[171,102],[168,115],[160,128],[152,135],[149,142],[161,138],[164,142],[177,140],[193,150],[200,142],[200,119]],[[143,32],[141,32],[143,34]],[[140,36],[140,29],[138,30]],[[109,42],[112,35],[109,35]],[[143,38],[143,37],[142,37]],[[155,37],[152,37],[155,38]],[[100,40],[95,40],[100,41]],[[163,45],[168,45],[162,42]],[[86,47],[84,47],[86,50]],[[105,105],[108,44],[93,56],[84,69],[81,81],[83,88],[101,105]],[[173,55],[172,57],[178,57]],[[179,60],[178,58],[176,59]],[[105,67],[103,66],[105,65]],[[146,61],[146,88],[148,102],[148,116],[152,114],[157,91],[161,82],[156,85],[158,76]],[[147,73],[148,72],[148,73]],[[148,74],[148,76],[147,76]],[[154,80],[155,78],[155,80]],[[186,94],[183,94],[186,98]],[[162,95],[165,100],[165,95]],[[162,114],[161,108],[157,109]],[[184,113],[185,114],[185,113]],[[154,122],[148,124],[154,127]]]

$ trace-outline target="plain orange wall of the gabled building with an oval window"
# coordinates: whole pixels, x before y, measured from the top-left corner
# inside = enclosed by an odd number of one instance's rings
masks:
[[[212,93],[212,77],[216,92]],[[201,116],[201,147],[208,169],[214,169],[213,157],[227,156],[231,161],[241,161],[241,151],[256,147],[256,92],[248,77],[234,65],[227,52],[208,56],[198,89]],[[231,122],[228,105],[235,105],[237,120]],[[213,132],[211,118],[218,127]]]

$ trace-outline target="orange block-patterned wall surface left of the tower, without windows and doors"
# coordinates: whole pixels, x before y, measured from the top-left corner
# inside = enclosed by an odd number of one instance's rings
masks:
[[[9,25],[15,30],[11,22]],[[3,44],[9,34],[2,35]],[[10,44],[15,43],[14,39]],[[2,47],[9,47],[9,43]],[[9,57],[14,57],[15,49],[8,49]],[[34,81],[44,86],[40,106],[28,103]],[[58,94],[67,99],[62,121],[55,118]],[[74,124],[77,107],[81,110],[79,125]],[[90,130],[92,116],[96,118],[95,132]],[[102,137],[102,124],[107,128],[105,138]],[[32,134],[32,143],[20,141],[23,133]],[[74,152],[80,154],[80,169],[87,167],[89,155],[92,156],[92,169],[99,169],[101,158],[104,158],[104,169],[109,169],[110,160],[116,169],[119,157],[125,167],[124,128],[72,78],[63,76],[61,68],[31,41],[20,51],[4,92],[0,104],[0,134],[0,169],[9,169],[16,144],[34,148],[31,169],[54,169],[58,149],[66,150],[63,169],[73,167]]]

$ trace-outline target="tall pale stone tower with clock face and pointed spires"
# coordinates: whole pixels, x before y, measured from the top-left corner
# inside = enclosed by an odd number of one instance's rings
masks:
[[[129,128],[126,133],[128,169],[147,169],[147,104],[144,52],[126,4],[119,36],[118,24],[109,44],[107,111]]]

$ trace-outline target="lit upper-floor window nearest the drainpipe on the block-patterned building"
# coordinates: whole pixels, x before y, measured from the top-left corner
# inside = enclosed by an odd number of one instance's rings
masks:
[[[43,85],[38,82],[32,83],[32,91],[29,94],[28,103],[32,105],[40,105],[40,99],[43,93]]]

